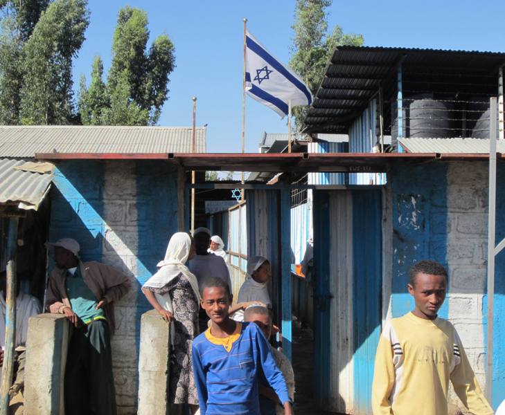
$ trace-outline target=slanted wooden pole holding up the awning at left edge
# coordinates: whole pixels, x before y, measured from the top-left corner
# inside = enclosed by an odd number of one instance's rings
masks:
[[[3,367],[0,383],[0,415],[8,415],[9,388],[14,374],[14,349],[16,339],[16,240],[19,218],[9,218],[7,237],[7,286],[6,286],[6,339],[3,349]]]

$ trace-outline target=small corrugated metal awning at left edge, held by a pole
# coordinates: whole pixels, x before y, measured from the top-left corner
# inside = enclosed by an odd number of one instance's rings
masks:
[[[41,174],[15,168],[24,163],[26,160],[0,158],[0,203],[15,203],[21,209],[37,210],[51,186],[53,172]]]

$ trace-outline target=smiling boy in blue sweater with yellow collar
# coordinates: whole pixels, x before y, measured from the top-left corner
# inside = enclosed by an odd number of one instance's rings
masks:
[[[202,308],[212,324],[193,341],[193,372],[200,400],[200,414],[260,415],[258,376],[263,372],[292,415],[286,382],[275,364],[265,335],[254,323],[235,322],[228,312],[233,299],[218,278],[200,287]]]

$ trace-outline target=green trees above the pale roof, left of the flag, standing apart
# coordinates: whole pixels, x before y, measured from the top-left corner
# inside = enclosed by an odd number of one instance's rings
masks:
[[[107,84],[102,80],[99,57],[93,65],[89,89],[81,82],[79,111],[83,124],[156,124],[168,98],[168,75],[175,67],[175,55],[167,35],[154,39],[149,50],[148,39],[146,13],[129,6],[121,9]]]

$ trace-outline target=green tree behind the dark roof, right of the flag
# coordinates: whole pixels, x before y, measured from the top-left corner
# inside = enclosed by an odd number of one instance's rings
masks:
[[[315,95],[323,80],[326,65],[337,46],[362,46],[362,35],[345,34],[335,26],[328,34],[326,9],[332,0],[296,0],[292,57],[290,66],[299,73]],[[293,115],[300,129],[308,107],[295,107]]]

